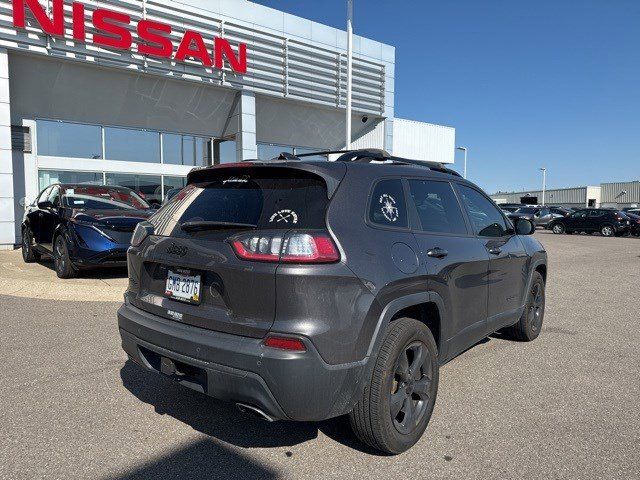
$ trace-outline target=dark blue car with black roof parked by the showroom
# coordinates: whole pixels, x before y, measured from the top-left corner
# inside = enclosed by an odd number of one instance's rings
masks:
[[[60,278],[82,269],[124,266],[136,225],[153,213],[125,187],[51,185],[25,211],[22,257],[35,262],[51,255]]]

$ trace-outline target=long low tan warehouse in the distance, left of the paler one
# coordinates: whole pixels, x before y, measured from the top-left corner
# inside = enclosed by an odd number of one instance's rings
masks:
[[[525,205],[539,205],[542,203],[542,190],[520,192],[497,192],[491,198],[498,204],[522,203]],[[600,187],[558,188],[545,191],[546,205],[561,207],[600,207]]]

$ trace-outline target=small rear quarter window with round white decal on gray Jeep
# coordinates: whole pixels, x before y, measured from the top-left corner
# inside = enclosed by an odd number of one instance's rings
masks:
[[[373,189],[369,204],[369,221],[385,227],[407,228],[407,206],[402,181],[381,180]]]

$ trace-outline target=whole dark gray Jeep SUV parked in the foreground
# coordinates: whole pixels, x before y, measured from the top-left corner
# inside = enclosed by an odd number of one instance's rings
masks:
[[[382,151],[218,165],[137,227],[118,312],[146,369],[264,419],[348,414],[399,453],[439,367],[502,330],[533,340],[547,256],[482,190]]]

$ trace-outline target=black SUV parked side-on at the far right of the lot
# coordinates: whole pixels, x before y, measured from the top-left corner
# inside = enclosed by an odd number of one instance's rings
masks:
[[[619,236],[630,228],[627,215],[619,210],[608,208],[583,208],[571,215],[554,220],[549,228],[553,233],[596,233],[604,237]]]

